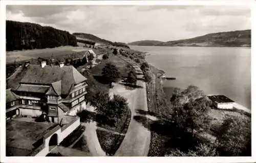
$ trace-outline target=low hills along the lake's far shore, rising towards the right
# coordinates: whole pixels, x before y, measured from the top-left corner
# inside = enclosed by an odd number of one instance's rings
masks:
[[[136,45],[145,45],[148,41],[136,41]],[[134,43],[129,43],[135,45]],[[251,46],[251,30],[230,31],[210,33],[189,39],[167,41],[160,43],[147,44],[148,46],[233,46],[233,47],[250,47]]]

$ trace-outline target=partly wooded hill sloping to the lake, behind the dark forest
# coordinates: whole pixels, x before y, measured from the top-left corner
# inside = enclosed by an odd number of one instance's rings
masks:
[[[105,39],[99,38],[95,35],[88,34],[88,33],[73,33],[73,35],[76,36],[77,42],[81,42],[81,43],[84,43],[85,41],[91,41],[91,42],[96,42],[98,44],[122,46],[125,48],[129,48],[129,46],[126,43],[112,42],[112,41],[105,40]]]

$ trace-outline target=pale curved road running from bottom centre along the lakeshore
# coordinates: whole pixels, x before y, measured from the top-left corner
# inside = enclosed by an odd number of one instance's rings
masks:
[[[120,56],[120,58],[122,57]],[[126,58],[123,59],[129,63],[132,63],[136,69],[136,73],[141,73],[141,69],[136,65],[135,62]],[[137,78],[143,78],[143,75],[137,75]],[[116,151],[115,156],[147,156],[150,148],[151,132],[148,131],[141,123],[133,119],[133,117],[137,115],[137,109],[144,111],[148,110],[145,82],[138,80],[137,85],[141,88],[125,91],[125,86],[118,83],[113,89],[110,90],[110,95],[119,94],[125,97],[132,112],[129,128],[127,129],[123,142]]]

